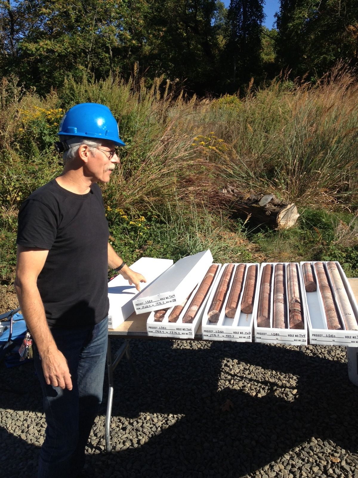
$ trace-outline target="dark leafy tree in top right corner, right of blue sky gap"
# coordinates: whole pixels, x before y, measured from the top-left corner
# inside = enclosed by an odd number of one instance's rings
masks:
[[[321,76],[338,59],[358,61],[358,4],[350,0],[281,0],[277,56],[295,76]]]

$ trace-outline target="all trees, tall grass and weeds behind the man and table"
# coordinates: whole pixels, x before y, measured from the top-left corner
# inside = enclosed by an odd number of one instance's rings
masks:
[[[59,121],[85,101],[106,104],[126,142],[103,193],[127,262],[209,247],[358,275],[358,3],[281,0],[272,30],[263,5],[0,0],[1,283],[19,206],[61,172]],[[234,219],[227,183],[295,202],[297,227]]]

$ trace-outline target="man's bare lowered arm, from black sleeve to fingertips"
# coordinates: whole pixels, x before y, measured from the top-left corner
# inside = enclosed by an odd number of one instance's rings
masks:
[[[39,351],[46,383],[72,390],[67,360],[58,350],[47,325],[45,311],[37,288],[48,250],[18,246],[15,290],[21,312]]]

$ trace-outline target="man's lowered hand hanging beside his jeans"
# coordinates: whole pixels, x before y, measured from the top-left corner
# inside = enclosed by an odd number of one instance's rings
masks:
[[[47,385],[72,390],[72,380],[67,360],[57,348],[41,356],[42,370]]]

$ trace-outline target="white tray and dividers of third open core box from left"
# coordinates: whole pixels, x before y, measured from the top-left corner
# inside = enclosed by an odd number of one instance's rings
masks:
[[[298,288],[300,293],[300,300],[301,300],[301,312],[303,315],[304,320],[304,328],[303,329],[291,329],[290,328],[290,317],[289,317],[289,309],[288,309],[288,293],[287,293],[287,267],[289,264],[295,264],[297,270],[297,279],[298,279]],[[284,266],[285,272],[285,280],[284,280],[284,295],[285,295],[285,302],[286,302],[286,328],[278,328],[274,327],[274,274],[276,265],[282,264]],[[263,262],[260,266],[260,277],[258,281],[258,291],[257,297],[259,297],[260,288],[261,288],[261,280],[263,274],[263,268],[265,265],[271,265],[272,274],[271,274],[271,282],[270,282],[270,327],[259,327],[257,325],[257,315],[258,315],[258,298],[257,298],[257,306],[254,309],[254,338],[255,342],[264,343],[264,344],[286,344],[286,345],[307,345],[307,310],[306,310],[306,302],[305,302],[305,291],[303,288],[303,276],[301,272],[300,265],[298,262]]]

